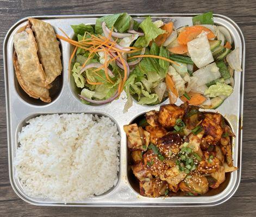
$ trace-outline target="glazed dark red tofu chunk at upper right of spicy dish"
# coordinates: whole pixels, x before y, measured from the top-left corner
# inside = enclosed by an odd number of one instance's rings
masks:
[[[205,141],[208,144],[216,145],[222,136],[223,130],[220,126],[221,115],[220,114],[205,114],[205,118],[202,122],[202,127],[205,133]]]

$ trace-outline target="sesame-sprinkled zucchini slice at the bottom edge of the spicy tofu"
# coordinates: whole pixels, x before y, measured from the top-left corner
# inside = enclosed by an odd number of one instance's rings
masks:
[[[194,195],[205,194],[208,192],[209,186],[207,178],[201,175],[190,175],[190,178],[185,178],[179,183],[179,188],[183,192],[190,192]]]

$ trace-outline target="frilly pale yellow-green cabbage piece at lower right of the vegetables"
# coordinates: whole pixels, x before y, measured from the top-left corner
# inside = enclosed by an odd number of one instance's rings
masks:
[[[229,97],[232,94],[233,88],[230,85],[217,82],[216,85],[211,85],[208,90],[204,92],[206,97]]]

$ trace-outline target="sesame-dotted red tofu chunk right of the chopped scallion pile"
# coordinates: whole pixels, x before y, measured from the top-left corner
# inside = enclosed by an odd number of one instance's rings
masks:
[[[208,151],[203,153],[202,161],[199,162],[197,170],[201,173],[215,173],[220,168],[217,157],[210,155]]]

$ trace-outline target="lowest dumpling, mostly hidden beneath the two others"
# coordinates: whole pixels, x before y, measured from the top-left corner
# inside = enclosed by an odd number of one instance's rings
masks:
[[[46,103],[51,102],[51,97],[49,96],[49,91],[45,87],[39,87],[37,85],[34,85],[32,82],[29,82],[24,79],[24,74],[20,69],[20,64],[17,59],[17,54],[14,52],[13,56],[13,62],[14,62],[14,67],[15,67],[15,72],[16,72],[16,77],[18,80],[18,83],[22,87],[22,89],[30,96],[35,99],[40,98],[42,101]]]

